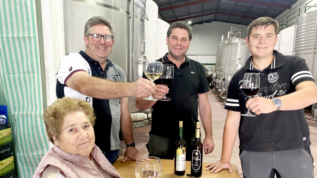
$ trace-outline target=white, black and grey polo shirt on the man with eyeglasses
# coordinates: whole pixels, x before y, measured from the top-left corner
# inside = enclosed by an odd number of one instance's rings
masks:
[[[61,59],[56,74],[56,96],[76,97],[89,102],[96,115],[94,125],[95,143],[102,151],[117,150],[121,148],[119,139],[120,130],[120,107],[121,99],[96,99],[85,96],[68,86],[67,79],[78,71],[85,71],[90,76],[107,80],[126,82],[124,71],[121,67],[107,59],[105,71],[102,70],[98,61],[90,58],[85,52],[69,53]]]

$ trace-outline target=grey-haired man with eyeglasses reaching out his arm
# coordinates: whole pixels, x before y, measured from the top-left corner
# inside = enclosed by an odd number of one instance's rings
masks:
[[[127,158],[136,161],[143,155],[135,148],[128,96],[147,97],[155,84],[147,79],[126,83],[121,67],[107,59],[114,43],[113,24],[94,16],[85,25],[86,52],[69,53],[60,61],[56,74],[56,96],[76,97],[89,102],[95,111],[95,143],[113,163],[121,148],[119,130],[126,142]]]

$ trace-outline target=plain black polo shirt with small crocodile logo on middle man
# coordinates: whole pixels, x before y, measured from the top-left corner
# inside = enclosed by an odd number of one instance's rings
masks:
[[[152,106],[152,126],[150,134],[178,138],[178,123],[183,121],[184,137],[195,135],[196,122],[198,122],[198,94],[210,92],[206,73],[201,63],[190,60],[187,56],[179,69],[168,60],[167,53],[163,58],[163,64],[174,66],[174,79],[168,86],[170,101],[158,100]],[[143,73],[143,78],[146,76]],[[154,80],[156,85],[161,84],[160,79]]]

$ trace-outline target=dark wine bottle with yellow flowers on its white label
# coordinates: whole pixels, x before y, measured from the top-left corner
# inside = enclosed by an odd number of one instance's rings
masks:
[[[174,173],[185,175],[186,168],[186,143],[183,140],[183,121],[179,121],[178,140],[175,143]]]

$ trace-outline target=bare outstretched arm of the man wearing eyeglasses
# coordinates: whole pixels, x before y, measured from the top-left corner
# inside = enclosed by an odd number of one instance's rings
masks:
[[[87,72],[73,73],[65,83],[73,90],[98,99],[117,99],[127,96],[146,97],[154,92],[155,84],[147,79],[138,79],[133,83],[114,82],[97,77],[90,77]]]

